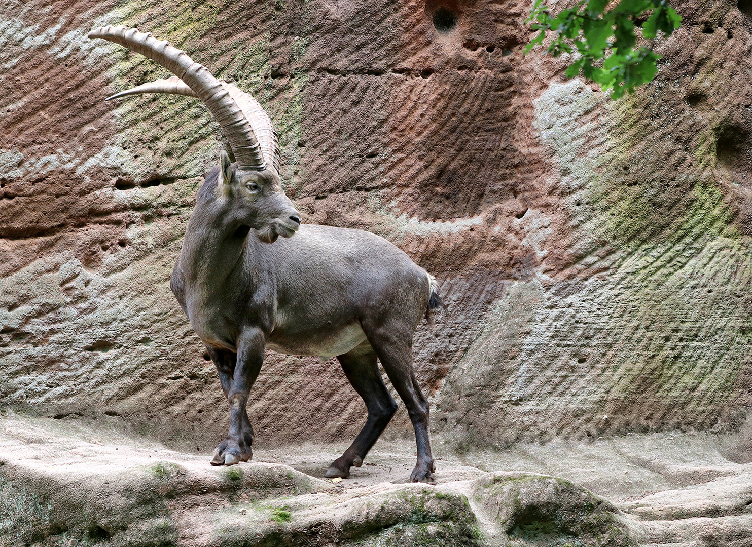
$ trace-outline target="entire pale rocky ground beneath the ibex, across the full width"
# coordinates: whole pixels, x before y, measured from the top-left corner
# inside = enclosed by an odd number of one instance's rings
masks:
[[[256,449],[211,467],[115,426],[6,413],[2,545],[750,545],[752,464],[717,434],[632,434],[452,455],[408,484],[411,440],[350,479],[344,444]],[[336,479],[335,479],[336,480]]]

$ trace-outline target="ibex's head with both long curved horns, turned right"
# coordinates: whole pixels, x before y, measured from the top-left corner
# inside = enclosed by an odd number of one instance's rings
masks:
[[[213,189],[202,189],[199,201],[214,201],[218,214],[258,231],[259,238],[273,243],[278,236],[290,237],[300,226],[300,213],[280,184],[280,147],[277,131],[261,105],[234,83],[217,80],[185,52],[150,34],[124,26],[103,26],[89,38],[104,38],[141,53],[174,74],[165,80],[108,97],[140,93],[172,93],[200,98],[220,123],[238,160],[231,164],[221,153],[220,169]],[[214,179],[209,174],[207,182]],[[205,183],[206,186],[206,183]],[[206,190],[206,191],[205,191]]]

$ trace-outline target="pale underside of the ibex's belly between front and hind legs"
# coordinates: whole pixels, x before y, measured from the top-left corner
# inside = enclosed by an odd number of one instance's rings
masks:
[[[290,337],[275,331],[266,347],[288,355],[318,355],[329,358],[347,353],[363,342],[365,332],[359,323],[355,322],[333,331],[322,331],[305,337]]]

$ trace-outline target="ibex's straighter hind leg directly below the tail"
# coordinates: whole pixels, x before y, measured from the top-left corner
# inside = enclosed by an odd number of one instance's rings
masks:
[[[362,321],[363,331],[368,342],[378,355],[381,365],[390,382],[408,409],[413,422],[417,444],[417,464],[410,475],[411,482],[435,484],[435,467],[431,455],[429,437],[429,404],[423,391],[420,391],[413,371],[412,337],[414,325],[403,325],[399,321],[376,323]],[[411,328],[412,327],[412,328]]]

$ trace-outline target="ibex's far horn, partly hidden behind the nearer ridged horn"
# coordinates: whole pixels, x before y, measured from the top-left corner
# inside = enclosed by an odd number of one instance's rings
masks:
[[[261,104],[259,104],[259,101],[256,101],[255,98],[244,92],[234,83],[226,83],[222,80],[218,81],[224,86],[232,100],[235,101],[235,104],[238,105],[248,122],[250,122],[253,134],[256,135],[256,139],[259,141],[265,162],[273,166],[274,170],[279,173],[281,161],[279,137],[277,136],[277,131],[274,130],[274,125],[272,125],[268,114],[262,108]],[[105,101],[144,93],[171,93],[172,95],[198,97],[183,80],[180,80],[177,76],[172,76],[121,91],[106,98]]]

